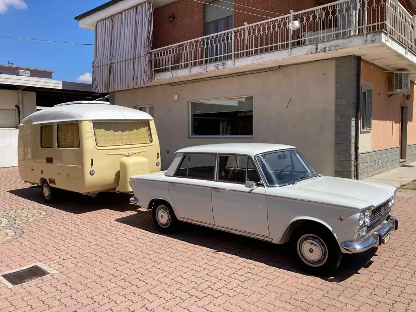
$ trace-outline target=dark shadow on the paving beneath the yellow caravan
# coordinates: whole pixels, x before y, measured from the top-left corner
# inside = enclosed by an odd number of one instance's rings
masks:
[[[136,207],[129,202],[130,194],[126,193],[99,193],[92,198],[80,193],[59,190],[56,203],[45,202],[42,195],[42,188],[20,188],[10,190],[12,193],[29,201],[34,201],[41,205],[63,210],[69,213],[87,213],[100,209],[114,211],[136,211]]]

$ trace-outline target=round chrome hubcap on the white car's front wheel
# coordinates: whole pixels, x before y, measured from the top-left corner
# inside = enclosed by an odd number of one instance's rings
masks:
[[[297,253],[303,262],[312,267],[319,267],[328,259],[327,245],[321,238],[313,234],[305,234],[299,238]]]

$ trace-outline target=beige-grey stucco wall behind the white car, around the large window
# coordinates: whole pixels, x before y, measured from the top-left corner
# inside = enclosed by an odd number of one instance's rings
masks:
[[[322,87],[324,86],[324,88]],[[178,94],[178,100],[174,100]],[[190,101],[253,96],[253,138],[189,138]],[[115,92],[123,106],[154,105],[162,168],[185,146],[265,142],[297,146],[322,174],[334,175],[335,61],[257,74]]]

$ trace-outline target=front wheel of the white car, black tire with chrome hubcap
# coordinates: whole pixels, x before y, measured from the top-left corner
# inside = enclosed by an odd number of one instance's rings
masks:
[[[328,276],[341,263],[342,252],[337,240],[323,225],[295,229],[290,244],[300,269],[311,275]]]

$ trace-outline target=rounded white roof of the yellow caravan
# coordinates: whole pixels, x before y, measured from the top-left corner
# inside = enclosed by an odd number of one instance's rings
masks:
[[[30,114],[22,120],[32,124],[47,122],[74,121],[74,120],[153,120],[153,117],[144,111],[109,104],[109,102],[78,101],[57,104]]]

